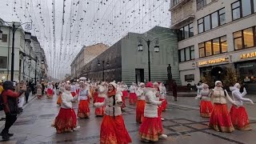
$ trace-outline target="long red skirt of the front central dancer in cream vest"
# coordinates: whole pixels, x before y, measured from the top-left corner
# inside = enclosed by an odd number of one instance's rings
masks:
[[[111,117],[105,115],[102,120],[101,144],[126,144],[131,142],[122,115]]]

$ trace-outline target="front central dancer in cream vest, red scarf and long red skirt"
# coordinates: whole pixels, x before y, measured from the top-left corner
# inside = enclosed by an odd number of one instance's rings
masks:
[[[126,130],[122,118],[122,92],[117,90],[117,84],[110,82],[104,102],[96,102],[94,106],[105,108],[105,115],[102,120],[100,143],[101,144],[126,144],[131,142],[130,135]]]

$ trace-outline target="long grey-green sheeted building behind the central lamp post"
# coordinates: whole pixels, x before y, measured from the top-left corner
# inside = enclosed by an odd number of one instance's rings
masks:
[[[148,50],[146,42],[150,41],[150,78],[152,82],[166,81],[167,66],[170,64],[172,77],[179,83],[178,43],[174,30],[156,26],[145,34],[129,33],[102,54],[98,55],[84,67],[83,76],[96,81],[115,80],[116,82],[148,82]],[[155,41],[158,38],[158,41]],[[157,43],[155,43],[157,42]],[[142,50],[138,51],[138,45]],[[154,51],[158,46],[159,52]],[[104,67],[103,67],[104,66]],[[104,73],[104,74],[103,74]],[[104,75],[104,78],[103,78]]]

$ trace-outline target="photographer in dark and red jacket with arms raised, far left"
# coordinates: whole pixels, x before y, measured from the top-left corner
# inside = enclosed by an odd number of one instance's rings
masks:
[[[2,130],[2,140],[8,141],[14,134],[9,133],[10,126],[14,124],[17,119],[18,110],[18,97],[26,91],[26,85],[22,86],[22,89],[16,93],[13,91],[14,83],[10,81],[3,82],[2,91],[2,105],[6,113],[6,124]]]

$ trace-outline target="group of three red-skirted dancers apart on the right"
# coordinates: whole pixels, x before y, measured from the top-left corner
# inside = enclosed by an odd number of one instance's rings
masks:
[[[251,130],[248,114],[246,112],[243,102],[250,102],[254,104],[250,98],[244,98],[246,89],[240,92],[241,86],[236,83],[230,86],[232,98],[230,98],[227,90],[222,88],[222,82],[216,81],[215,87],[209,90],[206,83],[200,82],[197,86],[198,95],[196,99],[200,98],[200,115],[203,118],[210,117],[209,127],[216,131],[232,132],[237,130]],[[232,104],[230,112],[227,108],[226,99]],[[212,105],[212,102],[214,105]]]

